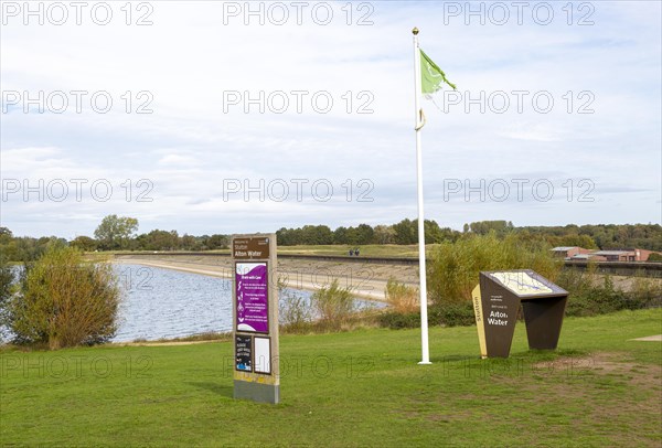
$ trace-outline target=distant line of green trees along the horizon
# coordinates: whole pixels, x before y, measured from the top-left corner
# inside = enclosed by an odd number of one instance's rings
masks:
[[[92,236],[77,236],[66,241],[56,236],[13,236],[7,227],[0,227],[0,253],[13,262],[39,258],[49,243],[57,242],[86,252],[95,250],[215,250],[226,249],[231,235],[180,235],[177,231],[153,230],[138,234],[138,220],[108,215],[103,218]],[[660,224],[588,224],[565,226],[522,226],[510,221],[480,221],[465,224],[462,231],[441,227],[434,220],[425,221],[427,244],[453,243],[474,235],[494,234],[503,238],[516,234],[521,241],[541,242],[554,246],[580,246],[589,249],[641,248],[662,250]],[[282,227],[276,232],[278,244],[293,245],[350,245],[370,244],[410,245],[418,243],[418,221],[405,218],[391,225],[359,224],[331,230],[328,225]]]

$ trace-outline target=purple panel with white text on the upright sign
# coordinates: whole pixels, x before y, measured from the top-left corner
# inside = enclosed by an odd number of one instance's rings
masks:
[[[266,263],[235,265],[237,331],[269,332],[269,301]]]

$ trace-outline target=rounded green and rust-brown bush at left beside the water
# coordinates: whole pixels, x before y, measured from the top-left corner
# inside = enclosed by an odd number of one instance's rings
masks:
[[[117,331],[120,294],[110,265],[84,263],[81,252],[51,247],[23,273],[8,303],[17,339],[52,350],[108,341]]]

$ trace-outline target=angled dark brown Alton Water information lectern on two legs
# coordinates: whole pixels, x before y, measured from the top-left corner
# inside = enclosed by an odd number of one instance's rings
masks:
[[[482,358],[510,355],[520,303],[528,348],[556,349],[568,292],[545,277],[530,269],[480,273],[472,298]]]

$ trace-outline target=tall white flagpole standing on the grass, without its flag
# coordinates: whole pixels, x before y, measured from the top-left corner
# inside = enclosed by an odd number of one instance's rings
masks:
[[[420,128],[424,125],[423,111],[420,109],[420,51],[418,49],[418,29],[412,30],[414,33],[414,108],[416,109],[416,172],[418,178],[418,270],[419,270],[419,292],[420,292],[420,348],[421,360],[418,364],[431,364],[430,350],[428,345],[428,322],[427,322],[427,281],[425,266],[425,220],[423,213],[423,153],[420,147]]]

